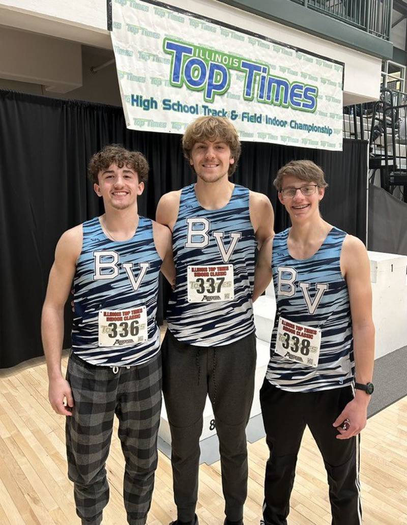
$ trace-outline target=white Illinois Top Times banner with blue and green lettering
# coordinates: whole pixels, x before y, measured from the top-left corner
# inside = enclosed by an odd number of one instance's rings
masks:
[[[113,0],[112,19],[129,129],[216,115],[243,141],[342,149],[343,64],[155,2]]]

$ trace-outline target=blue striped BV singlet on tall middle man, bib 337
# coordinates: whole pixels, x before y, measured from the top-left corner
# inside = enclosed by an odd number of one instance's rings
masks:
[[[254,332],[252,293],[256,246],[247,188],[235,184],[228,204],[213,210],[199,204],[194,184],[182,189],[173,231],[176,284],[167,314],[168,328],[176,339],[199,346],[221,346]],[[216,294],[221,281],[202,273],[204,277],[196,279],[202,283],[202,290],[205,289],[202,293],[206,302],[188,300],[188,286],[191,286],[191,282],[187,283],[188,267],[190,270],[202,266],[224,269],[226,265],[233,266],[234,299],[216,300],[220,297]]]

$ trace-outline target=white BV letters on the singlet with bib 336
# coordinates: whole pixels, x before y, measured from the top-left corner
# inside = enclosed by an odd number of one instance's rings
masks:
[[[114,279],[119,275],[119,254],[113,250],[106,251],[94,251],[93,257],[95,259],[95,273],[93,274],[93,280],[102,279]],[[106,260],[108,259],[108,260]],[[126,274],[129,278],[131,286],[134,291],[137,291],[141,285],[141,281],[145,276],[145,272],[150,268],[149,262],[138,262],[137,266],[140,267],[140,272],[137,279],[133,274],[133,263],[123,262],[122,268],[126,270]]]

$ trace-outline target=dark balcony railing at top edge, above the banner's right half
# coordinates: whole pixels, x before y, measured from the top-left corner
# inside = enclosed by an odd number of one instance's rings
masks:
[[[389,40],[392,0],[291,0]]]

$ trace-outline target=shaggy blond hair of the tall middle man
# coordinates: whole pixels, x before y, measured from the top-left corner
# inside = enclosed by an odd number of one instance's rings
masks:
[[[182,137],[184,156],[190,161],[192,148],[196,142],[216,139],[225,142],[231,150],[231,156],[235,161],[229,165],[228,175],[231,176],[236,170],[242,148],[236,128],[225,117],[199,117],[191,122]]]

